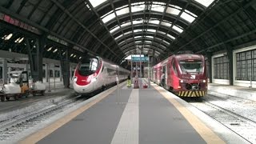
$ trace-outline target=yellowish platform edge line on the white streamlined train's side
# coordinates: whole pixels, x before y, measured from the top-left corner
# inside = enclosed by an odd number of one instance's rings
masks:
[[[119,86],[119,87],[122,87],[123,85],[124,84],[122,83],[121,86]],[[74,110],[70,114],[68,114],[68,115],[64,116],[63,118],[58,119],[58,121],[50,124],[50,126],[47,126],[46,128],[39,130],[38,132],[28,136],[27,138],[25,138],[24,140],[22,140],[19,143],[30,144],[30,143],[36,143],[36,142],[40,141],[42,138],[45,138],[47,135],[51,134],[52,132],[57,130],[59,127],[65,125],[67,122],[70,122],[70,120],[77,117],[78,114],[81,114],[85,110],[89,109],[91,106],[94,106],[97,102],[100,102],[103,98],[106,98],[106,96],[113,93],[114,90],[116,90],[116,88],[111,88],[110,90],[106,91],[104,94],[99,96],[98,98],[94,99],[92,102],[89,102],[85,106],[78,108],[78,110]]]

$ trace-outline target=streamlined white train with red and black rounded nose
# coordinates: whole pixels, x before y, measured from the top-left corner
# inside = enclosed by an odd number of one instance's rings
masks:
[[[78,94],[91,94],[96,90],[105,90],[118,81],[122,82],[130,74],[111,62],[99,57],[83,59],[74,70],[74,91]]]

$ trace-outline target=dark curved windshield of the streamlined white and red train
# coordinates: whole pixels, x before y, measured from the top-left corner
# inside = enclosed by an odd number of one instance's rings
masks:
[[[98,65],[98,58],[87,58],[82,60],[78,72],[84,76],[94,74],[94,72],[98,69]]]

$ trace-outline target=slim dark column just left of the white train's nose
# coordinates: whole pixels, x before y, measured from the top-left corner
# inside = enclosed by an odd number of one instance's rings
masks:
[[[63,52],[65,52],[65,54],[63,54]],[[60,51],[60,59],[64,87],[70,88],[70,59],[68,49],[66,49],[65,51]]]

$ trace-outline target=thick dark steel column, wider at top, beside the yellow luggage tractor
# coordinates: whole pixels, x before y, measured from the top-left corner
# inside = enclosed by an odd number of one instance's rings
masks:
[[[36,81],[42,81],[42,51],[46,44],[46,37],[26,38],[26,47],[30,61],[31,76]]]

